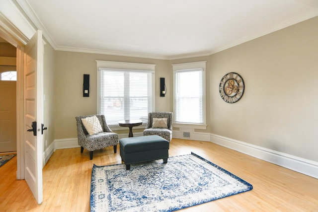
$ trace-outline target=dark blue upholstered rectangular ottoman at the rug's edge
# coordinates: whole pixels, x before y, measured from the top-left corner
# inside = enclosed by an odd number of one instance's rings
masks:
[[[168,161],[169,141],[160,136],[130,137],[119,140],[120,156],[130,169],[131,163],[163,159]]]

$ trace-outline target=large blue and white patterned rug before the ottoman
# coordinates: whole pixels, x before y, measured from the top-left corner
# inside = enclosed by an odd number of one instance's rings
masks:
[[[251,190],[251,184],[194,154],[132,164],[96,166],[91,212],[171,212]]]

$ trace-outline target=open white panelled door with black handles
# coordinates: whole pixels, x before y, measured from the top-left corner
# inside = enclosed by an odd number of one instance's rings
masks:
[[[43,42],[38,30],[24,48],[25,180],[36,201],[43,201]],[[27,131],[27,132],[26,132]]]

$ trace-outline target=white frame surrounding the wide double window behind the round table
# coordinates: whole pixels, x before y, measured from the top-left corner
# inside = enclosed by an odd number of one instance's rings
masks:
[[[97,63],[97,113],[101,114],[100,111],[100,95],[101,95],[101,85],[100,85],[100,70],[109,71],[133,71],[133,72],[148,72],[152,74],[152,110],[155,111],[155,64],[139,64],[139,63],[125,63],[125,62],[113,62],[113,61],[98,61]],[[148,118],[148,114],[147,114]],[[120,121],[120,120],[118,120]],[[106,120],[107,122],[107,120]],[[144,121],[143,125],[137,126],[136,129],[145,128],[147,122]],[[118,123],[108,124],[112,130],[127,130],[123,127],[119,127]]]

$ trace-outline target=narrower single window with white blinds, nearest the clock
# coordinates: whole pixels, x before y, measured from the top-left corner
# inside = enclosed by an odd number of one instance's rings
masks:
[[[204,61],[172,65],[174,83],[173,114],[175,123],[206,124],[205,63]]]

